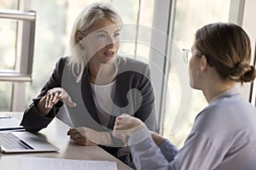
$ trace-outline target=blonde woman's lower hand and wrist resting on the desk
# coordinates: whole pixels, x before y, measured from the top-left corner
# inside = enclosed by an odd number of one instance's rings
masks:
[[[70,135],[70,138],[80,145],[112,144],[112,139],[108,132],[97,132],[88,127],[71,128],[67,135]]]

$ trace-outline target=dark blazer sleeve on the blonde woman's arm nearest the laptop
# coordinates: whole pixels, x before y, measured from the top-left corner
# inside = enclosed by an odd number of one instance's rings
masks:
[[[25,129],[29,132],[38,132],[42,128],[47,127],[49,122],[53,120],[56,113],[59,111],[60,107],[63,105],[61,101],[59,101],[52,109],[49,111],[48,116],[42,116],[38,110],[36,105],[40,99],[47,94],[48,90],[51,88],[61,88],[61,77],[64,66],[66,65],[67,58],[61,58],[55,64],[55,70],[53,71],[51,77],[49,77],[49,81],[46,82],[44,88],[42,88],[41,93],[38,95],[36,99],[32,100],[32,104],[28,106],[26,111],[23,114],[20,125],[25,127]]]

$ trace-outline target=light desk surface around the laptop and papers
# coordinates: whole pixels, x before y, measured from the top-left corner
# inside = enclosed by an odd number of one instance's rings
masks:
[[[5,115],[6,112],[0,115]],[[19,112],[9,112],[11,116],[21,118]],[[47,140],[58,147],[58,152],[49,153],[23,153],[23,154],[2,154],[0,153],[1,170],[20,170],[20,157],[38,156],[48,158],[63,158],[73,160],[95,160],[95,161],[116,161],[119,170],[131,170],[131,167],[126,166],[122,161],[119,161],[114,156],[111,156],[105,150],[98,146],[80,146],[73,144],[67,136],[69,127],[55,118],[47,128],[42,129],[39,133],[43,134]]]

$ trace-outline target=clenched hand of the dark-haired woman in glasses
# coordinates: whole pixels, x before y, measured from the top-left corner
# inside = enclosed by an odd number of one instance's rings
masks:
[[[123,114],[118,116],[115,120],[113,136],[123,139],[124,143],[127,143],[133,133],[143,128],[147,127],[140,119]]]

